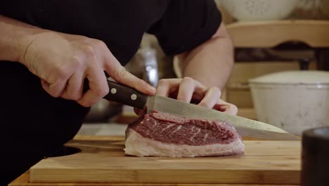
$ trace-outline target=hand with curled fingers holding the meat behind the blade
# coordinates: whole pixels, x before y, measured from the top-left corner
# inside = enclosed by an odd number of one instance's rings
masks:
[[[162,79],[157,84],[156,94],[188,103],[196,103],[231,115],[238,113],[238,108],[235,105],[220,99],[221,90],[218,87],[206,87],[191,77]],[[138,111],[136,113],[140,114]]]

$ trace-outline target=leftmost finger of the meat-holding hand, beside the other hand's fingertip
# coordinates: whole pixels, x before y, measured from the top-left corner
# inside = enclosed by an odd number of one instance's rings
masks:
[[[169,94],[174,92],[181,83],[181,79],[162,79],[157,82],[157,95],[169,97]]]

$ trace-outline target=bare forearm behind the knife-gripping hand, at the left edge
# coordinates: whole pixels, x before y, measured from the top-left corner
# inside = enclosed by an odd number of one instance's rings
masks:
[[[20,61],[20,56],[43,30],[0,15],[0,61]]]

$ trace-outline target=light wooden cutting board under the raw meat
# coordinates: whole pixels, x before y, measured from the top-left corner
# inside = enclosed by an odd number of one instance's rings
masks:
[[[30,182],[299,184],[300,142],[248,141],[245,154],[202,158],[125,156],[122,137],[72,140],[82,151],[43,159]]]

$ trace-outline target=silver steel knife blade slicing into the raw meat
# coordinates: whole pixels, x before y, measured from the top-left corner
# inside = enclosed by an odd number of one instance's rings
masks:
[[[269,140],[299,140],[297,136],[292,135],[291,133],[280,128],[274,127],[273,125],[262,123],[257,120],[250,120],[240,116],[231,116],[227,113],[207,109],[194,104],[188,104],[176,99],[155,95],[153,97],[148,97],[146,106],[148,113],[152,111],[162,111],[187,118],[221,120],[233,125],[241,136],[257,137]]]

